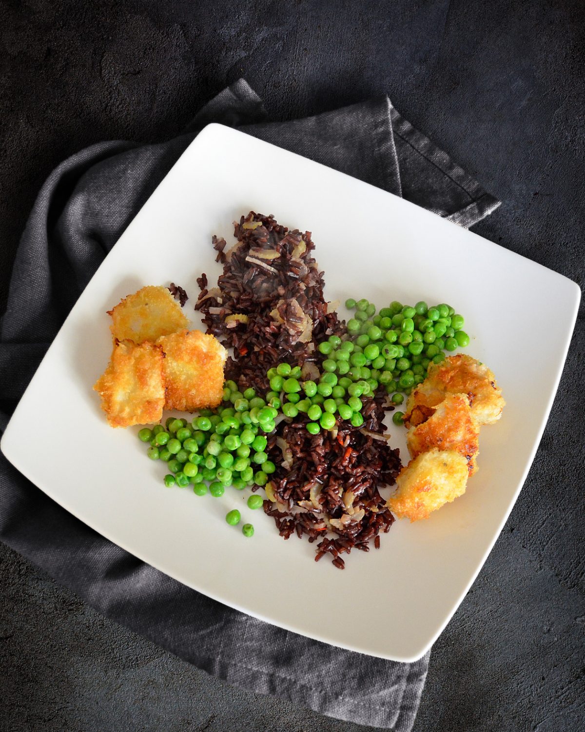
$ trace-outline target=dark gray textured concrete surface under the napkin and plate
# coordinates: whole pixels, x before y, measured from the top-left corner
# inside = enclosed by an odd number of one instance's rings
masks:
[[[478,234],[583,283],[579,0],[0,0],[0,39],[0,311],[20,230],[62,158],[174,135],[240,76],[276,119],[388,93],[502,199]],[[546,349],[530,313],[526,327]],[[581,310],[524,490],[434,646],[417,732],[585,728],[583,360]],[[3,546],[0,583],[1,730],[366,729],[206,676]]]

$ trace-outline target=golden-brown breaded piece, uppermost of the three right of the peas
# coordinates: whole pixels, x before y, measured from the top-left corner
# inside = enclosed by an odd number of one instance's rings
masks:
[[[414,425],[423,421],[420,411],[437,406],[445,394],[467,394],[479,425],[497,422],[505,406],[496,377],[488,367],[471,356],[458,354],[448,356],[440,364],[429,365],[429,375],[410,395],[404,419]]]

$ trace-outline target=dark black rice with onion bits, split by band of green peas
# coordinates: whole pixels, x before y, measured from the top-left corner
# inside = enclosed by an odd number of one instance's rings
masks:
[[[272,215],[254,212],[234,227],[233,247],[213,238],[223,273],[216,288],[208,288],[205,274],[198,278],[195,309],[207,332],[233,348],[226,378],[242,392],[253,386],[263,395],[269,368],[320,365],[318,343],[346,329],[328,312],[309,231],[289,231]],[[315,561],[329,554],[338,569],[345,566],[341,554],[369,551],[371,541],[379,548],[380,532],[394,520],[378,490],[393,485],[401,468],[399,451],[382,437],[385,395],[363,398],[362,414],[361,427],[338,418],[333,430],[312,435],[300,413],[283,419],[268,437],[276,471],[265,487],[265,513],[284,539],[306,535],[317,542]]]

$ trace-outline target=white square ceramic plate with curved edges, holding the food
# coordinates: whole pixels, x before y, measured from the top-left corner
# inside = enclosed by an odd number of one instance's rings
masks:
[[[502,419],[482,429],[480,470],[467,493],[429,520],[397,521],[382,534],[380,550],[355,550],[342,572],[326,558],[315,563],[306,539],[283,541],[271,518],[246,508],[247,490],[215,499],[164,488],[165,471],[146,458],[137,430],[108,427],[91,389],[110,356],[105,311],[143,285],[174,281],[186,288],[186,313],[199,326],[195,280],[206,272],[214,283],[220,272],[211,235],[232,242],[231,222],[250,209],[312,231],[328,300],[449,302],[472,336],[465,352],[488,364],[507,400]],[[415,660],[455,612],[516,501],[551,409],[580,294],[565,277],[412,203],[211,124],[80,296],[1,449],[72,514],[209,597],[320,641]],[[546,348],[528,321],[547,334]],[[68,477],[50,441],[31,451],[33,422],[67,434],[69,453],[83,466],[79,478]],[[390,431],[407,458],[404,429]],[[254,523],[252,539],[225,523],[236,507]]]

